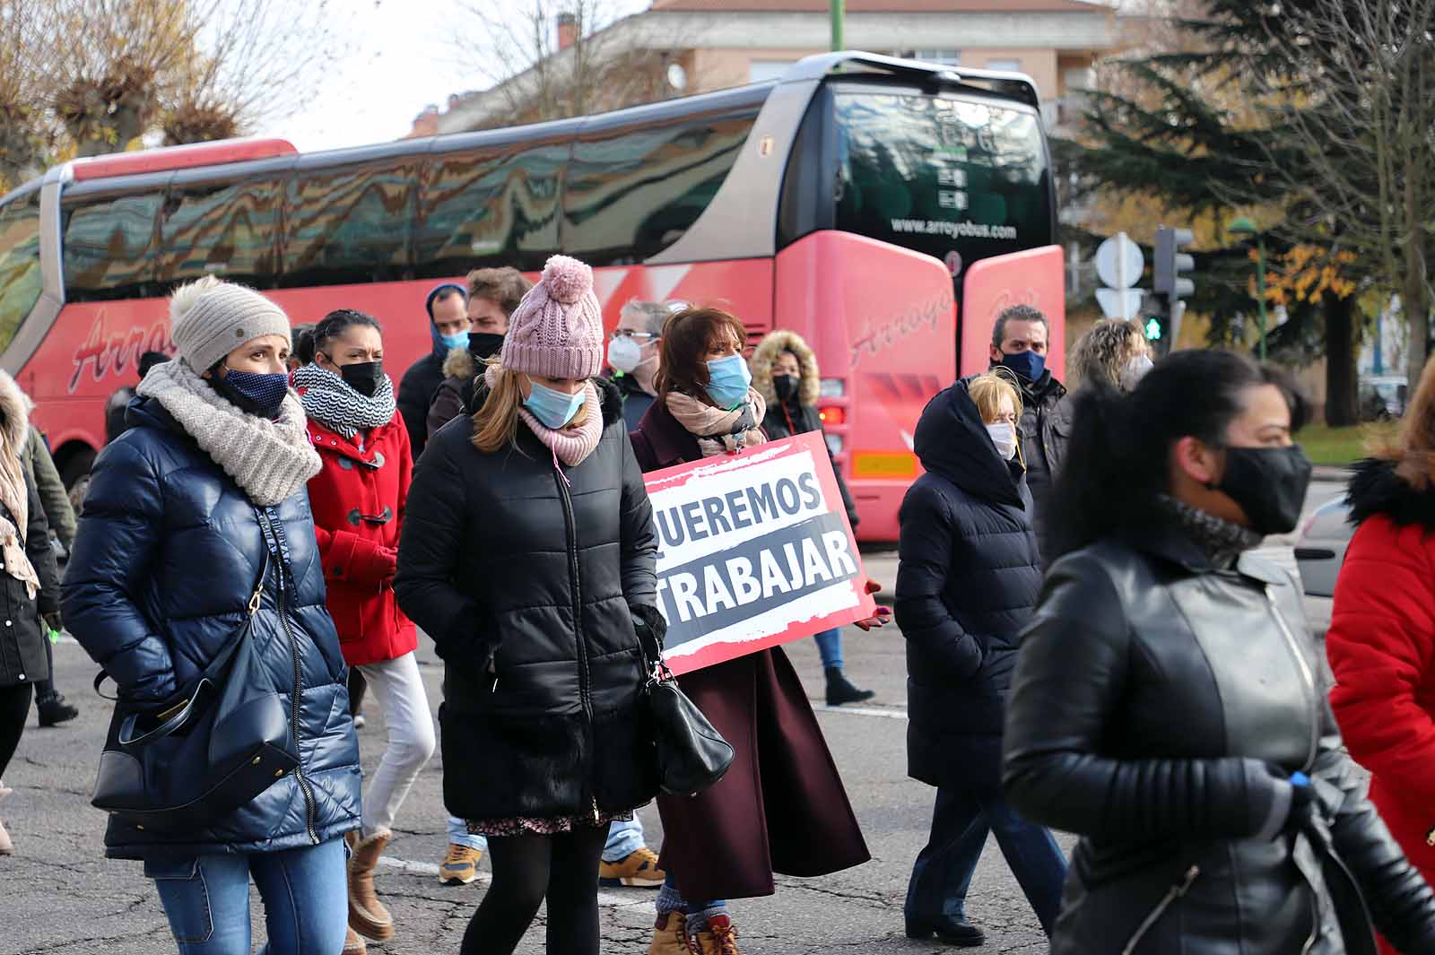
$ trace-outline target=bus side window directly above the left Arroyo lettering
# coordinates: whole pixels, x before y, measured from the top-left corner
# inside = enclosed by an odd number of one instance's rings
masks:
[[[65,298],[96,301],[159,294],[155,218],[164,192],[62,202]]]

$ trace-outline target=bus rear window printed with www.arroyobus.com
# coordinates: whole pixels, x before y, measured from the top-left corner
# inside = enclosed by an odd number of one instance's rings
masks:
[[[986,99],[835,90],[838,229],[959,275],[1048,245],[1052,184],[1036,113]]]

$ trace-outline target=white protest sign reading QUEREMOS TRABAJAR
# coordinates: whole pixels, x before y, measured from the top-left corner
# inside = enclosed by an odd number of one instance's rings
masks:
[[[646,475],[683,674],[874,614],[821,434]]]

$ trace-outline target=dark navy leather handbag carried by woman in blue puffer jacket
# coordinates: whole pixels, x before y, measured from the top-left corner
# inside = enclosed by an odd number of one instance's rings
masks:
[[[115,698],[96,809],[146,830],[202,829],[298,766],[290,714],[250,640],[267,574],[265,548],[244,621],[184,698],[159,713]],[[96,693],[106,677],[95,677]]]

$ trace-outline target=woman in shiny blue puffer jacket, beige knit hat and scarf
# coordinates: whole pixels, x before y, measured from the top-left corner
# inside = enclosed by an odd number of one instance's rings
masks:
[[[179,288],[169,317],[177,360],[151,370],[131,429],[95,462],[66,624],[126,700],[162,711],[244,618],[267,549],[250,638],[274,690],[298,698],[300,764],[204,829],[161,836],[112,819],[106,855],[144,860],[182,955],[250,952],[251,876],[265,952],[337,955],[359,746],[306,493],[320,460],[288,390],[288,318],[214,278]]]

